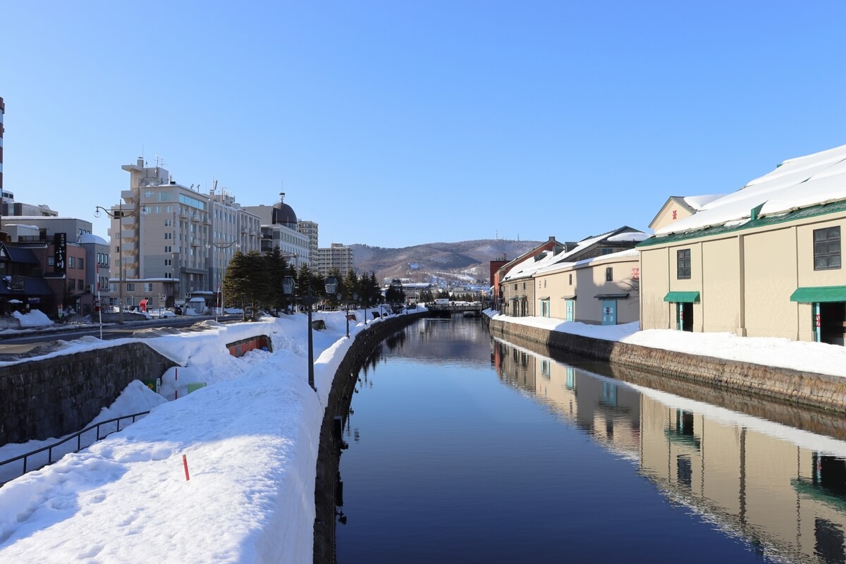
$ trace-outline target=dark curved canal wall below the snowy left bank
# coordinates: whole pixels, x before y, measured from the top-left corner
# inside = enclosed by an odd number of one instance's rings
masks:
[[[343,437],[332,431],[335,426],[335,417],[340,416],[343,422],[346,421],[349,413],[349,402],[352,400],[353,390],[358,383],[359,369],[365,364],[379,343],[425,315],[426,312],[420,312],[387,317],[380,323],[371,326],[367,331],[361,331],[355,336],[355,341],[350,345],[346,356],[335,372],[326,413],[323,415],[320,451],[317,453],[314,539],[314,561],[316,563],[325,564],[336,561],[335,525],[337,519],[335,507],[343,496],[343,485],[338,473]]]

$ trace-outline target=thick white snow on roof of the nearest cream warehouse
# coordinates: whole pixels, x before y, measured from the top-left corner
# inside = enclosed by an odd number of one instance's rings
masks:
[[[655,234],[742,223],[759,205],[759,216],[773,216],[838,200],[846,200],[846,145],[788,159],[737,192],[711,200],[694,215],[657,229]]]

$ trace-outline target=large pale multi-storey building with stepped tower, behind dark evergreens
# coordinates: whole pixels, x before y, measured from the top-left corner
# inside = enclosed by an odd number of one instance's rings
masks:
[[[214,293],[236,250],[259,250],[258,216],[225,190],[209,194],[176,183],[161,167],[139,158],[122,167],[129,189],[108,211],[113,258],[110,302],[150,307],[182,303],[192,293]]]

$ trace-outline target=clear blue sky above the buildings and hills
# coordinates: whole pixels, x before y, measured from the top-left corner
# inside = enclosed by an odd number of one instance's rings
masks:
[[[320,244],[646,229],[846,144],[846,2],[0,7],[3,185],[94,222],[144,156]],[[404,211],[426,208],[425,222]]]

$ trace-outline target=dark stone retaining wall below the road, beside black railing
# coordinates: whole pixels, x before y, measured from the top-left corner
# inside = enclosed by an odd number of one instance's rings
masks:
[[[175,365],[133,342],[0,367],[0,445],[78,431],[129,382],[158,378]]]

